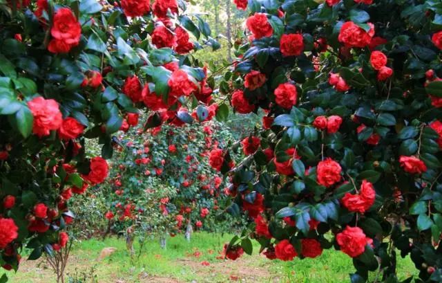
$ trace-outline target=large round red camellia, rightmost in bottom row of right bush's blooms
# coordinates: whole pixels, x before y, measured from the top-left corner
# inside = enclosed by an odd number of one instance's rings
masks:
[[[340,250],[350,257],[362,255],[365,246],[372,242],[372,239],[365,237],[364,231],[359,227],[345,227],[343,232],[336,235],[336,242],[340,246]]]

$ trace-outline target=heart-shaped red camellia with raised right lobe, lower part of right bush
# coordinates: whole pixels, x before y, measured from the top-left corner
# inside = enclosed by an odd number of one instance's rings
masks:
[[[373,205],[375,198],[376,192],[374,191],[373,184],[364,180],[358,194],[347,192],[341,202],[349,211],[364,213]]]

